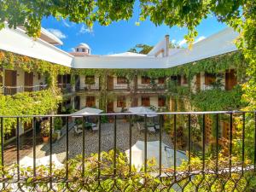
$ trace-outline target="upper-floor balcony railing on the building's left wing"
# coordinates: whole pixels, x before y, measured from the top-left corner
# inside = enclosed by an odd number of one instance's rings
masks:
[[[38,90],[46,90],[48,88],[48,84],[39,84],[33,86],[3,86],[1,87],[3,95],[13,96],[16,93],[25,92],[25,91],[38,91]],[[1,91],[0,91],[1,93]]]

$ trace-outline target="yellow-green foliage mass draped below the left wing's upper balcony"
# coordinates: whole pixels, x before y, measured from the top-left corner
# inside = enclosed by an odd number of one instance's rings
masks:
[[[0,95],[0,115],[39,115],[48,114],[58,108],[61,96],[55,96],[52,90],[17,93],[15,96]],[[23,123],[29,123],[32,118],[22,118]],[[4,118],[3,129],[8,134],[15,127],[15,118]]]

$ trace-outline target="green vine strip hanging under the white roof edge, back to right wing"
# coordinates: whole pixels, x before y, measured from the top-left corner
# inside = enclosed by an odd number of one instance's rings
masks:
[[[106,71],[109,75],[126,77],[132,79],[135,75],[143,75],[149,78],[169,77],[174,75],[186,75],[192,78],[197,73],[220,73],[226,69],[236,68],[238,79],[245,78],[247,63],[244,61],[240,51],[234,51],[225,55],[218,55],[201,61],[190,62],[188,64],[154,69],[72,69],[72,73],[80,75],[102,76]]]

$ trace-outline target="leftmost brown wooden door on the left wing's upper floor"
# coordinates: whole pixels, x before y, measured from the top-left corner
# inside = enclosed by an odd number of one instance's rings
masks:
[[[5,95],[14,95],[17,92],[17,72],[14,70],[4,70]]]

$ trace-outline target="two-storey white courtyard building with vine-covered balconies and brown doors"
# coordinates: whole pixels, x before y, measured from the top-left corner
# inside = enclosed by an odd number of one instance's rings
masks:
[[[218,75],[205,71],[196,73],[190,86],[184,73],[166,72],[172,71],[174,67],[236,52],[233,41],[237,35],[231,28],[226,28],[194,44],[192,50],[170,49],[169,36],[166,36],[148,55],[129,52],[93,55],[90,46],[84,43],[79,44],[71,53],[59,49],[57,46],[62,44],[61,40],[44,29],[40,38],[33,40],[26,36],[22,27],[14,30],[6,26],[0,31],[0,51],[24,56],[23,60],[34,58],[51,65],[70,68],[71,73],[58,74],[56,77],[65,98],[62,108],[70,109],[69,112],[73,109],[96,107],[107,113],[118,113],[135,106],[163,111],[176,110],[172,90],[170,96],[168,87],[171,81],[196,92],[212,89],[212,84],[219,79],[223,90],[232,90],[237,84],[236,67],[228,67]],[[9,69],[4,65],[0,70],[3,73],[0,76],[0,94],[3,95],[44,90],[49,86],[47,76],[37,71],[26,72],[17,66]],[[61,111],[60,108],[59,113]]]

